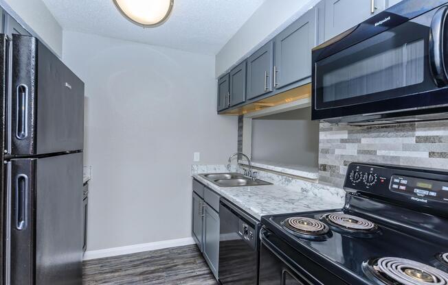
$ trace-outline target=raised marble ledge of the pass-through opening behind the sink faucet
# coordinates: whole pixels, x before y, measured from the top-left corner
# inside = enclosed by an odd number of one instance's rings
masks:
[[[238,160],[238,163],[247,165],[247,161],[245,160]],[[271,162],[267,160],[253,160],[251,161],[251,164],[252,166],[261,169],[267,169],[289,175],[300,176],[308,179],[317,180],[319,178],[319,169],[317,169],[317,167],[310,167],[298,164],[285,164],[285,163]]]

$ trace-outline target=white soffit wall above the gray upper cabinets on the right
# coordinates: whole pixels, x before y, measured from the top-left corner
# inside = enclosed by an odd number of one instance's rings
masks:
[[[318,1],[266,0],[216,55],[216,77],[256,51]]]

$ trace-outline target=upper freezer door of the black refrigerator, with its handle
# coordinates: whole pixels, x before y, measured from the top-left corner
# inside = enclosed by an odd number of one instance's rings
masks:
[[[76,151],[84,142],[84,83],[31,36],[12,37],[11,154]]]

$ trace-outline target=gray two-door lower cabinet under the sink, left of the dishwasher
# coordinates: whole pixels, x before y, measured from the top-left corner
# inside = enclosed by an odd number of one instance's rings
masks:
[[[196,180],[193,180],[192,195],[192,237],[218,280],[219,195]]]

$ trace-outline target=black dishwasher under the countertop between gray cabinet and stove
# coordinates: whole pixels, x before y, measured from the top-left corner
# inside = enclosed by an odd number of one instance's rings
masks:
[[[222,197],[219,221],[219,282],[258,284],[260,222]]]

